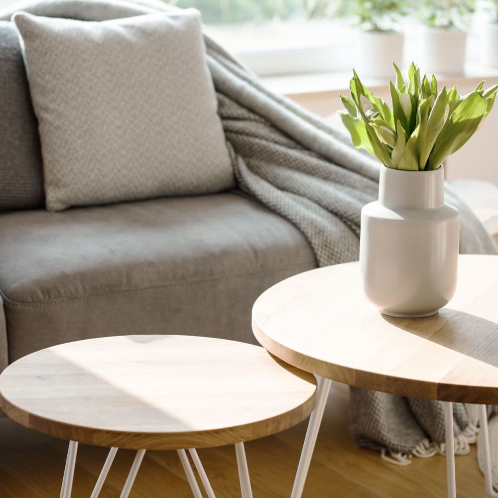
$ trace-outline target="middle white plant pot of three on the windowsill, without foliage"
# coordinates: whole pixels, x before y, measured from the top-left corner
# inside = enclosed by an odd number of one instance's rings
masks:
[[[424,26],[420,40],[422,74],[463,74],[467,43],[465,31]]]

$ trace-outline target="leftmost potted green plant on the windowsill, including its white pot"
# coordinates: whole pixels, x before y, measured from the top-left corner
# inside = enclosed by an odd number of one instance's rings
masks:
[[[369,78],[388,78],[392,61],[402,64],[403,34],[399,18],[408,13],[405,0],[344,0],[340,16],[355,19],[360,27],[357,67]]]

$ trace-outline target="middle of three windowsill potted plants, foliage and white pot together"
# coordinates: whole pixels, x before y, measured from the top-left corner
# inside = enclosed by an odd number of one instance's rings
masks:
[[[464,72],[467,23],[474,0],[423,0],[419,17],[420,66],[426,73],[459,75]]]

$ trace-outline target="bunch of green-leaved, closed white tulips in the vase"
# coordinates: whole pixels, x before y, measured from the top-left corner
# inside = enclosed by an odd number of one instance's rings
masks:
[[[390,82],[392,108],[375,97],[353,70],[351,99],[341,96],[347,110],[342,121],[353,145],[363,148],[388,168],[424,171],[437,169],[483,124],[497,95],[498,85],[477,88],[460,96],[456,87],[438,91],[434,75],[420,77],[412,62],[409,81],[393,63],[396,82]]]

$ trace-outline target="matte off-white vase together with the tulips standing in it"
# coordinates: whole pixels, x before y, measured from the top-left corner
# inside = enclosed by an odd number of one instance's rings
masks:
[[[383,163],[378,201],[362,210],[360,268],[369,299],[391,316],[434,314],[456,288],[459,213],[444,203],[445,157],[462,147],[491,111],[498,85],[484,82],[460,96],[399,69],[392,107],[374,96],[356,71],[342,121],[353,144]]]

